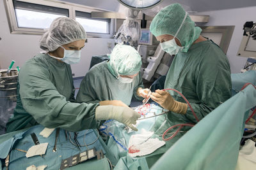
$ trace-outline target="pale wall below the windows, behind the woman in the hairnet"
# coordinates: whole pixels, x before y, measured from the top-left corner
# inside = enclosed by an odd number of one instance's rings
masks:
[[[20,66],[26,60],[39,53],[39,40],[41,36],[10,34],[8,20],[3,1],[0,1],[0,69],[7,69],[12,60],[15,66]],[[88,38],[82,50],[82,58],[79,64],[72,65],[72,72],[75,77],[84,76],[90,66],[93,55],[104,55],[109,53],[108,42],[114,43],[114,39],[109,38]]]

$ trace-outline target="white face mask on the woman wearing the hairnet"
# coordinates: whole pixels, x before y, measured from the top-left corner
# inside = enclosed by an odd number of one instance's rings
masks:
[[[60,46],[61,48],[63,48],[62,46]],[[54,59],[58,59],[58,60],[61,60],[67,64],[76,64],[80,61],[81,59],[81,50],[66,50],[65,48],[63,48],[64,50],[64,56],[63,58],[59,58],[59,57],[54,57],[52,55],[49,55],[51,56],[52,58]]]

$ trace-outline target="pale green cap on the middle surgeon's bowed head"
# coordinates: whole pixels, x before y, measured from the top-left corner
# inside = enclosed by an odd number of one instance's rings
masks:
[[[108,68],[114,76],[118,76],[118,74],[134,75],[141,68],[140,54],[132,46],[116,45],[110,55]]]

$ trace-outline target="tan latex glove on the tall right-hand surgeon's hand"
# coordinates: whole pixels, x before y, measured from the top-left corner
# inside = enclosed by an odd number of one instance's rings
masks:
[[[181,114],[185,114],[188,110],[188,105],[186,103],[175,101],[167,91],[156,90],[156,92],[152,93],[150,97],[166,110]]]

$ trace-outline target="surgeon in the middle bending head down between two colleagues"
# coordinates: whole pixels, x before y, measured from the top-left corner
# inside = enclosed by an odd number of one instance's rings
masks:
[[[129,106],[132,96],[143,100],[141,56],[132,46],[118,44],[109,60],[93,66],[81,82],[77,102]]]

